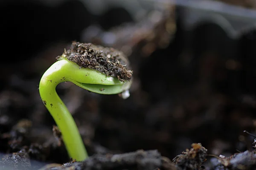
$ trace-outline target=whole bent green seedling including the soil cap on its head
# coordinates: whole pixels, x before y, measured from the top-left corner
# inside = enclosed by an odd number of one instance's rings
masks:
[[[87,151],[78,127],[56,92],[61,82],[73,82],[77,86],[98,94],[125,94],[131,86],[132,71],[119,60],[123,54],[113,48],[73,42],[70,50],[57,57],[58,61],[48,68],[40,80],[39,93],[51,113],[72,159],[83,161]]]

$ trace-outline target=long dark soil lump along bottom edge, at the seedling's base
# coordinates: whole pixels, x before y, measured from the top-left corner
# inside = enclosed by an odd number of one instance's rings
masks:
[[[70,162],[47,170],[154,170],[162,166],[161,158],[157,150],[137,150],[115,155],[94,155],[82,162]]]

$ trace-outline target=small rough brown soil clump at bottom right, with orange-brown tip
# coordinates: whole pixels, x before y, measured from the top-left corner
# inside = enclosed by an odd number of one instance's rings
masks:
[[[192,148],[186,149],[186,152],[176,156],[172,162],[177,164],[183,170],[202,170],[201,164],[206,160],[207,149],[200,143],[191,144]]]

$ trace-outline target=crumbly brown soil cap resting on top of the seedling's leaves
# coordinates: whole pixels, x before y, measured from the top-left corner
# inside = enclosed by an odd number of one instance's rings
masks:
[[[132,71],[128,70],[128,59],[114,48],[102,47],[91,43],[73,42],[57,60],[67,58],[80,67],[90,68],[108,76],[117,77],[120,81],[131,79]]]

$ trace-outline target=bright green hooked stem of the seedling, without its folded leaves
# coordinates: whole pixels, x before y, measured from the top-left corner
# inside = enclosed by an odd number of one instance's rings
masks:
[[[68,81],[63,71],[58,69],[59,66],[59,63],[55,62],[45,72],[39,84],[39,93],[44,105],[51,113],[59,130],[61,130],[62,138],[69,156],[77,161],[83,161],[88,156],[79,130],[72,115],[55,90],[59,83]]]

